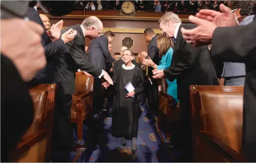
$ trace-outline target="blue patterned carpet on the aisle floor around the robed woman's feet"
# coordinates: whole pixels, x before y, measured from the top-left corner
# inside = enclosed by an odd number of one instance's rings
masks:
[[[100,114],[98,123],[103,124],[101,134],[90,135],[90,131],[86,125],[83,128],[83,142],[87,149],[84,152],[70,153],[72,162],[172,162],[168,150],[161,147],[160,138],[154,129],[154,119],[146,117],[146,105],[141,106],[141,116],[139,119],[139,130],[137,138],[138,151],[135,155],[131,152],[131,141],[127,140],[126,147],[121,145],[121,138],[111,136],[111,116],[108,114]],[[107,112],[111,112],[107,110]],[[76,130],[74,130],[74,138],[76,139]]]

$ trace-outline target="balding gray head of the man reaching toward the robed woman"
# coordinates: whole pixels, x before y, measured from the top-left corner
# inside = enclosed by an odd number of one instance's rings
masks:
[[[81,25],[85,29],[85,36],[90,39],[99,37],[103,31],[103,24],[96,16],[85,18]]]

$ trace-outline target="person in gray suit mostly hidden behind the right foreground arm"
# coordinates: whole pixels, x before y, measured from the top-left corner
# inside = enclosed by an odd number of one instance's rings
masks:
[[[248,25],[253,22],[254,15],[248,16],[251,13],[250,1],[233,1],[231,10],[239,26]],[[244,63],[224,62],[222,77],[225,79],[225,86],[244,86],[245,75]]]

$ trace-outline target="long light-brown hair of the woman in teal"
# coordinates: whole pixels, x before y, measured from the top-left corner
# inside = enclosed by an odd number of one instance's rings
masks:
[[[156,37],[157,47],[159,49],[159,56],[166,54],[166,52],[173,46],[173,41],[165,35],[158,35]]]

